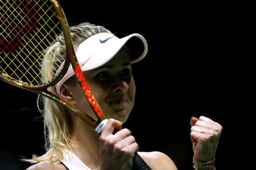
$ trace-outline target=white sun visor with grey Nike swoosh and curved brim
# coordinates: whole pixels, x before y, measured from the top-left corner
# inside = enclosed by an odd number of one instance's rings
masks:
[[[135,59],[131,59],[131,63],[135,63],[140,61],[144,58],[147,54],[147,41],[144,39],[143,36],[139,35],[138,33],[133,33],[129,36],[123,37],[119,39],[118,37],[114,36],[112,33],[97,33],[86,39],[82,42],[77,50],[76,50],[76,57],[79,61],[79,65],[81,67],[81,71],[88,71],[96,69],[110,61],[115,54],[119,52],[119,50],[126,44],[126,42],[131,39],[131,37],[138,37],[144,46],[144,50],[141,54],[137,54]],[[133,44],[131,44],[133,45]],[[133,50],[131,48],[138,48],[137,46],[129,47],[129,50]],[[64,64],[64,62],[63,62]],[[59,68],[59,70],[62,67]],[[59,71],[57,71],[59,73]],[[64,77],[55,85],[57,94],[60,95],[60,87],[62,84],[75,75],[72,65],[69,66],[67,73]]]

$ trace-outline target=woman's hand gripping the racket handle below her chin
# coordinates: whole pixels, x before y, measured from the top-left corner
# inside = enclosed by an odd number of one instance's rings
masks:
[[[113,134],[114,129],[118,132]],[[100,135],[101,169],[131,169],[133,157],[139,146],[122,123],[110,118]]]

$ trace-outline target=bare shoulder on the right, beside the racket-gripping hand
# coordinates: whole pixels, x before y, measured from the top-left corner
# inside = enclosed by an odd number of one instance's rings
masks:
[[[139,156],[150,166],[151,169],[177,170],[176,165],[169,156],[162,152],[138,152]]]

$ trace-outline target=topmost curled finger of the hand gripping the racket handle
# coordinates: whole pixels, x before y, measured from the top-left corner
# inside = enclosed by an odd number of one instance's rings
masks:
[[[103,127],[101,131],[101,135],[109,135],[113,134],[114,129],[117,129],[118,131],[122,129],[122,123],[118,120],[115,120],[113,118],[110,118],[107,122],[107,124]]]

